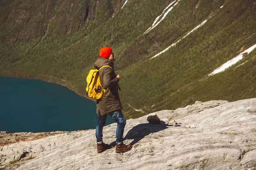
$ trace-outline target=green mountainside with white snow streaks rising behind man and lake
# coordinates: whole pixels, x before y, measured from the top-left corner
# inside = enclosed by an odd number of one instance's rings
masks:
[[[256,96],[256,0],[1,0],[0,5],[2,76],[41,79],[85,95],[87,73],[99,49],[109,46],[122,77],[127,118],[196,100]]]

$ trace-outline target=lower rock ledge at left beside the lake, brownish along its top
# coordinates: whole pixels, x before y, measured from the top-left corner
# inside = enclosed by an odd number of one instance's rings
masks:
[[[49,135],[49,139],[45,136],[46,133],[30,133],[31,136],[26,136],[28,133],[9,133],[10,136],[4,136],[3,132],[0,132],[0,136],[3,135],[4,138],[9,142],[13,143],[13,137],[23,139],[19,140],[13,144],[0,145],[0,166],[7,165],[9,162],[15,161],[13,164],[14,168],[10,170],[14,170],[17,164],[23,164],[26,161],[33,159],[37,156],[41,156],[44,153],[48,153],[63,144],[66,144],[70,141],[75,140],[76,138],[81,137],[81,132],[71,132],[73,135],[66,135],[65,132],[53,132],[47,133]],[[36,134],[36,136],[35,136]],[[41,136],[43,134],[43,136]],[[54,135],[58,134],[58,135]],[[38,136],[40,135],[40,136]],[[27,139],[32,139],[26,141]],[[26,139],[26,140],[24,140]],[[1,144],[5,144],[6,141],[3,141],[3,138],[0,138]]]

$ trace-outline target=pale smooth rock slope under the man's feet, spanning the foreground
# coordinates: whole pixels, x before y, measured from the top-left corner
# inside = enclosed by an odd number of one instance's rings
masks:
[[[127,120],[125,142],[133,148],[126,153],[115,153],[111,124],[103,139],[113,148],[103,153],[96,151],[95,130],[65,132],[0,146],[0,169],[256,170],[256,98],[154,114],[162,125],[149,124],[150,115]]]

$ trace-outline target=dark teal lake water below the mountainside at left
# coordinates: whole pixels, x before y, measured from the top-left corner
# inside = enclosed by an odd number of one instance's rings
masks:
[[[95,129],[96,102],[49,82],[0,77],[0,131]],[[110,116],[106,125],[113,123]]]

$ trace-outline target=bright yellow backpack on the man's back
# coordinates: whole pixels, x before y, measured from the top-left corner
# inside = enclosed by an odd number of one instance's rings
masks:
[[[101,68],[99,68],[99,70],[97,70],[97,69],[90,70],[89,74],[86,77],[86,81],[87,81],[86,93],[87,93],[87,96],[89,96],[93,99],[102,98],[103,94],[106,91],[102,87],[100,79],[99,79],[99,71],[103,67],[110,67],[113,70],[113,68],[111,66],[104,65]]]

